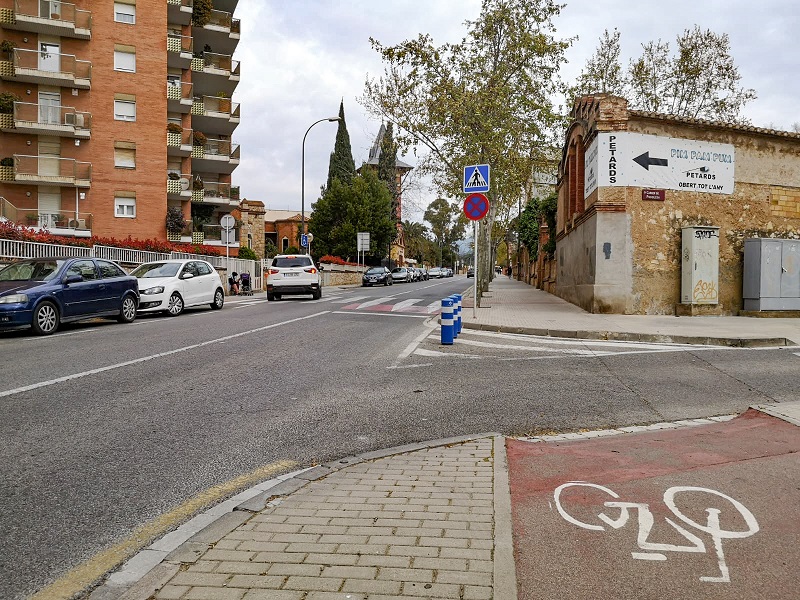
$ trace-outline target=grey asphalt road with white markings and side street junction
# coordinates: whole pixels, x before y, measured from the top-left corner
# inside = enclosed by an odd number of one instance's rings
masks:
[[[443,347],[437,303],[471,283],[326,288],[319,301],[239,298],[46,338],[0,334],[0,597],[25,598],[188,499],[278,461],[299,468],[441,437],[711,416],[796,396],[800,358],[786,350],[598,348],[466,330]]]

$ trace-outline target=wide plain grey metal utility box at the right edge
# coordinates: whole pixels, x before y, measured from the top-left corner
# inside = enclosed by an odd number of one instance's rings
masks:
[[[800,310],[800,240],[744,241],[744,310]]]

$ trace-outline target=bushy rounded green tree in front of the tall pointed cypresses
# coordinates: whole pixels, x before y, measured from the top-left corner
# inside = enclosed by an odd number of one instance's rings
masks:
[[[345,184],[335,177],[322,197],[312,205],[309,231],[314,234],[314,253],[345,259],[357,255],[359,231],[370,233],[368,262],[379,261],[395,235],[390,216],[392,198],[372,169]]]

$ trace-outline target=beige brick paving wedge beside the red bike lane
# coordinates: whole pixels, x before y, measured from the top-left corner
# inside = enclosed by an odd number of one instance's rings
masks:
[[[345,467],[212,544],[157,600],[494,598],[484,438]]]

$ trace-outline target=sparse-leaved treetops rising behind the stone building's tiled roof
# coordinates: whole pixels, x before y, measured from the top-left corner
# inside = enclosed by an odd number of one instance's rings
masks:
[[[740,86],[741,75],[730,54],[728,35],[718,35],[695,25],[676,39],[677,54],[668,42],[642,44],[642,55],[632,59],[619,76],[619,32],[606,30],[595,55],[587,62],[575,95],[607,92],[624,96],[630,107],[727,123],[746,123],[744,106],[756,98],[755,90]]]

